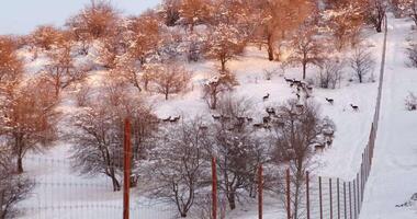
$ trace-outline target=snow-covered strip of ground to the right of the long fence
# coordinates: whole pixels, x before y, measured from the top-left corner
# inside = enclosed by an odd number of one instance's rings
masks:
[[[388,20],[380,127],[362,219],[417,218],[417,201],[395,207],[417,193],[417,114],[404,106],[408,92],[417,92],[417,70],[405,65],[406,38],[416,34],[410,26],[410,21]]]

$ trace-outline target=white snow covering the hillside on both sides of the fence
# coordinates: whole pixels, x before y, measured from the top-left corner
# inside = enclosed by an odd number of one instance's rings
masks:
[[[417,192],[417,114],[404,110],[404,99],[408,91],[417,92],[416,69],[405,67],[405,37],[410,34],[410,22],[390,19],[386,72],[383,87],[382,116],[379,138],[375,148],[374,166],[365,191],[363,219],[412,219],[417,216],[416,208],[395,208],[396,204],[407,200]],[[415,33],[414,33],[415,34]],[[377,81],[383,34],[367,31],[364,44],[368,45],[376,59],[375,78]],[[30,64],[38,68],[42,61]],[[293,89],[285,83],[283,76],[275,74],[272,80],[264,79],[264,70],[278,68],[278,62],[268,61],[266,51],[248,47],[244,55],[228,62],[228,67],[239,80],[237,95],[250,97],[253,103],[253,119],[260,120],[267,106],[275,106],[290,97],[295,97]],[[165,101],[162,96],[154,95],[151,104],[159,117],[171,115],[202,115],[207,119],[211,112],[202,100],[202,79],[210,78],[216,68],[212,61],[191,64],[188,66],[193,74],[192,91],[172,96]],[[316,69],[308,69],[313,73]],[[291,68],[286,78],[301,78],[300,68]],[[314,89],[313,99],[322,104],[324,116],[330,117],[336,126],[336,138],[333,147],[316,155],[318,166],[316,175],[351,180],[359,170],[361,153],[365,148],[373,118],[377,83],[359,84],[349,82],[349,68],[340,89]],[[100,74],[90,78],[97,83]],[[267,93],[270,99],[262,101]],[[330,105],[325,97],[335,99]],[[70,95],[68,95],[70,99]],[[64,103],[70,103],[70,100]],[[353,112],[350,104],[358,105],[359,112]],[[65,105],[65,111],[75,110]],[[66,124],[61,127],[65,128]],[[32,154],[25,159],[27,172],[36,177],[38,183],[30,199],[20,204],[27,210],[22,218],[120,218],[122,215],[122,194],[114,193],[111,182],[105,177],[86,178],[70,170],[68,157],[70,146],[61,142],[45,154]],[[153,203],[135,191],[132,201],[132,218],[171,219],[177,212],[172,206],[165,203]],[[282,214],[278,200],[269,200],[264,206],[264,218],[279,218]],[[75,207],[78,206],[78,207]],[[227,218],[257,218],[256,204],[239,205],[238,210]]]

